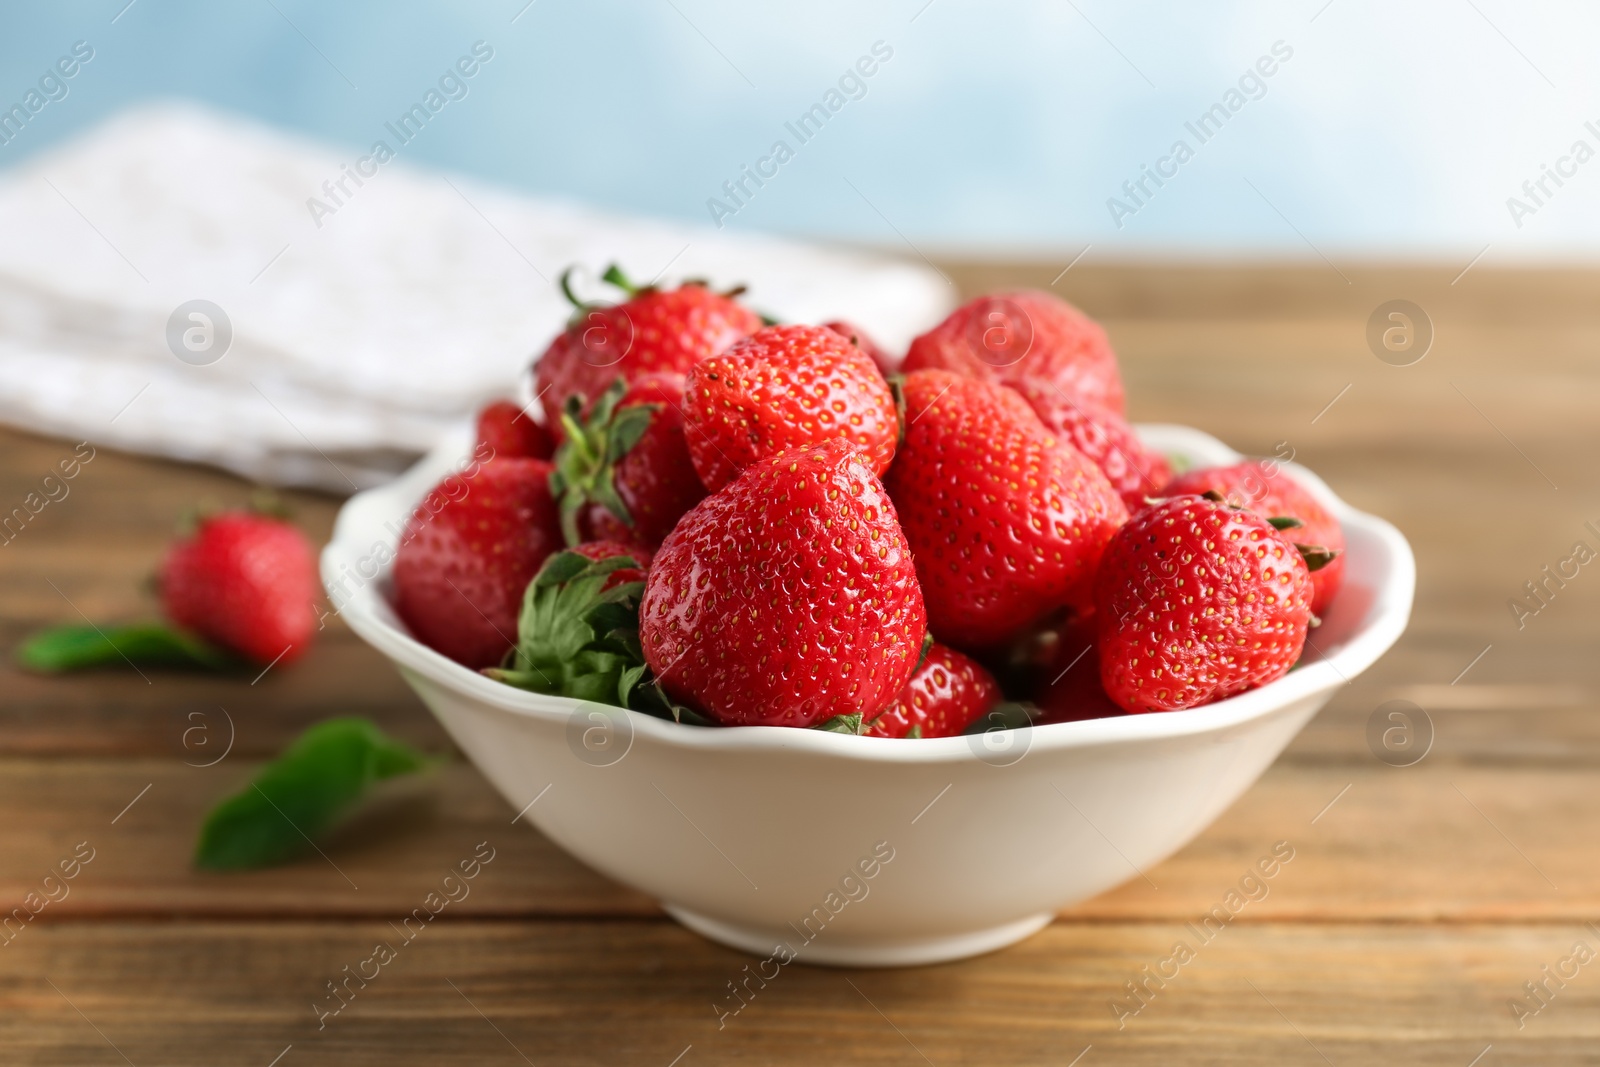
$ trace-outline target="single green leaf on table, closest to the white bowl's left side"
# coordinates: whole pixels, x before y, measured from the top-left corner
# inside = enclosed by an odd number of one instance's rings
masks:
[[[245,870],[294,859],[370,785],[432,765],[365,718],[317,723],[211,809],[195,843],[195,867]]]

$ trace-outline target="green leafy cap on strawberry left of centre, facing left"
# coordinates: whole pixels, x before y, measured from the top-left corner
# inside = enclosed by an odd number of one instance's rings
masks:
[[[562,411],[562,430],[566,440],[555,453],[550,494],[560,507],[562,536],[568,545],[582,544],[578,520],[590,502],[600,504],[627,526],[634,525],[627,504],[616,491],[616,464],[645,435],[661,405],[630,403],[618,408],[626,392],[624,379],[613,381],[600,394],[589,418],[584,418],[582,395],[566,398]]]

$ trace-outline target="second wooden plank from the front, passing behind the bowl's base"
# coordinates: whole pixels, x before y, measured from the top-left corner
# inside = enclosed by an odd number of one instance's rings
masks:
[[[0,822],[10,827],[0,904],[21,904],[45,872],[90,841],[96,859],[40,921],[392,917],[410,910],[458,854],[490,841],[501,859],[462,913],[656,913],[651,901],[512,825],[515,813],[464,765],[390,790],[326,841],[325,856],[250,873],[190,870],[205,809],[248,769],[232,758],[210,769],[165,760],[0,761]],[[562,800],[552,793],[541,803]],[[1123,886],[1066,915],[1198,918],[1282,840],[1294,861],[1243,921],[1579,921],[1600,917],[1600,861],[1578,846],[1597,835],[1600,782],[1584,768],[1278,765],[1198,840],[1146,872],[1150,881],[1130,869]]]

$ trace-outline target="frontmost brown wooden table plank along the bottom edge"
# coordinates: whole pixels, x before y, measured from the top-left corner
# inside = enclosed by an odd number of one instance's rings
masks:
[[[446,912],[448,913],[448,912]],[[1125,982],[1181,925],[1058,923],[960,965],[760,963],[670,923],[78,925],[0,952],[11,1064],[1589,1064],[1600,976],[1578,971],[1518,1030],[1507,1006],[1587,929],[1238,926],[1134,1016]],[[363,965],[374,945],[394,958]],[[344,968],[346,1006],[328,982]],[[1166,968],[1171,974],[1171,966]],[[1554,985],[1552,985],[1554,989]],[[722,1013],[718,1013],[718,1006]],[[318,1029],[322,1024],[322,1029]],[[1083,1056],[1083,1051],[1091,1051]],[[1080,1061],[1074,1057],[1083,1056]],[[678,1057],[678,1059],[675,1059]]]

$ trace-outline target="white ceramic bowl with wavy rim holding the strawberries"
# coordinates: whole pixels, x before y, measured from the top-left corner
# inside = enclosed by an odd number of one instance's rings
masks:
[[[1141,435],[1192,466],[1238,459],[1186,427]],[[514,689],[406,633],[378,560],[469,451],[464,427],[400,480],[344,506],[322,555],[330,592],[342,579],[334,603],[510,811],[526,809],[557,845],[685,926],[762,957],[776,950],[778,961],[968,957],[1138,877],[1232,805],[1334,689],[1400,637],[1416,584],[1394,526],[1290,464],[1338,515],[1349,547],[1315,649],[1278,681],[1186,712],[978,737],[680,726]]]

